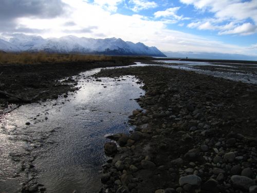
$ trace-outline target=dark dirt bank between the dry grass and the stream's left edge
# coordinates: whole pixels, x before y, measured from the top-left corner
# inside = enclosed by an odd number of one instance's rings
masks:
[[[74,91],[76,81],[71,78],[60,82],[70,76],[97,67],[124,66],[133,64],[135,60],[146,60],[143,57],[112,57],[109,61],[85,61],[66,63],[42,63],[42,64],[1,64],[0,65],[0,91],[18,96],[8,96],[0,93],[1,108],[9,103],[30,102],[40,99],[58,98],[58,95]]]

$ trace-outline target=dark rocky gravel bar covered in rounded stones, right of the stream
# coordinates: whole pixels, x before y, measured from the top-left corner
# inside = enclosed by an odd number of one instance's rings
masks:
[[[96,77],[134,75],[143,83],[130,135],[115,134],[100,192],[249,192],[256,188],[257,86],[146,66]],[[247,181],[244,183],[243,181]],[[252,191],[253,192],[253,191]]]

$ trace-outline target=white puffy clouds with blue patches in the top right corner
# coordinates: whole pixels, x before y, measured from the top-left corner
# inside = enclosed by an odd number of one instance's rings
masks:
[[[215,19],[204,19],[192,22],[188,27],[198,29],[219,30],[219,34],[252,34],[257,32],[257,0],[244,2],[243,0],[180,0],[181,3],[193,5],[201,11],[214,13]],[[250,19],[251,22],[245,22]],[[206,21],[207,20],[207,21]],[[229,22],[227,25],[221,23]]]

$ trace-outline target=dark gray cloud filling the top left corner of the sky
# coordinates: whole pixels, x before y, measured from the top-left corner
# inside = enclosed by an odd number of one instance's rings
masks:
[[[53,18],[66,13],[68,5],[61,0],[1,0],[0,32],[40,33],[44,30],[19,26],[19,17]],[[17,27],[19,26],[19,27]]]

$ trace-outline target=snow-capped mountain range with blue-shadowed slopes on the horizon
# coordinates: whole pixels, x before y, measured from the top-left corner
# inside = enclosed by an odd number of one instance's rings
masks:
[[[140,42],[135,44],[133,42],[125,42],[120,38],[93,39],[78,38],[76,36],[43,39],[40,36],[16,34],[8,42],[0,39],[0,50],[6,52],[45,51],[60,54],[76,53],[165,57],[156,47],[145,46]]]

